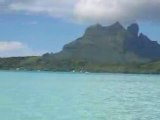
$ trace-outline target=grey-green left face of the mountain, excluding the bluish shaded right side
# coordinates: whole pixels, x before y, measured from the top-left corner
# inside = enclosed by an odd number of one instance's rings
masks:
[[[122,63],[125,30],[120,24],[110,27],[95,25],[88,28],[81,38],[64,46],[58,55],[94,63]]]

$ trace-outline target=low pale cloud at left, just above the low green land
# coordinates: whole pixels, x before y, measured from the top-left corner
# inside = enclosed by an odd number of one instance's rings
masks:
[[[41,55],[45,52],[35,51],[18,41],[0,41],[0,57]]]

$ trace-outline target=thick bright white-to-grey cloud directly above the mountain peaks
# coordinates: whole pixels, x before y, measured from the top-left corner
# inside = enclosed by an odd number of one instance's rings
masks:
[[[80,21],[160,21],[159,0],[80,0],[75,15]]]

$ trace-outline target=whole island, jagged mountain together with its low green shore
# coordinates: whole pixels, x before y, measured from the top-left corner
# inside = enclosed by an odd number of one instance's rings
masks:
[[[160,45],[139,33],[138,24],[125,28],[116,22],[88,27],[59,53],[2,58],[0,69],[160,73],[159,60]]]

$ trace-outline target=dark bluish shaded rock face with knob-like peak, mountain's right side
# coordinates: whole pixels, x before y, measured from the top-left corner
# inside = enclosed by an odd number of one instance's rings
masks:
[[[142,58],[148,58],[151,60],[160,58],[160,45],[151,41],[143,33],[139,34],[139,27],[137,24],[132,24],[128,27],[128,37],[124,43],[124,48],[127,51],[135,53]]]

